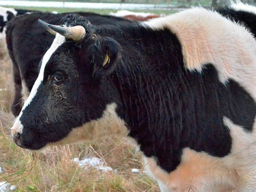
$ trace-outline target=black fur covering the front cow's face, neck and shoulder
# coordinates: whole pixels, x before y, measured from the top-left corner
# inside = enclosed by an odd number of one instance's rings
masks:
[[[228,155],[232,139],[224,116],[252,131],[256,103],[250,94],[232,79],[221,83],[212,64],[201,73],[186,70],[180,42],[170,30],[137,23],[84,26],[90,35],[62,44],[46,65],[44,81],[20,118],[23,147],[38,149],[60,140],[72,128],[100,118],[113,102],[142,152],[156,157],[167,172],[180,164],[186,147]],[[91,49],[95,45],[98,50]],[[95,78],[106,46],[118,57],[111,68],[99,67]],[[56,71],[65,77],[61,82],[51,80]]]

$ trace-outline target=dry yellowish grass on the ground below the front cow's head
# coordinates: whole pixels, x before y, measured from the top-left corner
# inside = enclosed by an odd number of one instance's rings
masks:
[[[10,184],[16,185],[17,192],[159,191],[157,184],[143,173],[142,155],[120,138],[108,138],[91,145],[50,147],[38,155],[36,163],[27,150],[19,148],[9,138],[14,122],[10,112],[13,99],[11,70],[6,43],[0,39],[0,167],[4,172],[0,182],[8,175],[5,179],[13,180]],[[85,156],[101,158],[115,171],[84,170],[73,161],[75,157]],[[132,168],[141,172],[134,174]]]

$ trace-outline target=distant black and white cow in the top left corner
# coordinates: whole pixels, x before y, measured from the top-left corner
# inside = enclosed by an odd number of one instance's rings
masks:
[[[4,32],[7,22],[12,18],[22,14],[30,14],[31,12],[31,10],[5,8],[0,6],[0,34]]]

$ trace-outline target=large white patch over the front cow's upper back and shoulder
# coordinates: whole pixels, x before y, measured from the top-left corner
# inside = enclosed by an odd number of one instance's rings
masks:
[[[213,64],[222,83],[233,79],[256,100],[256,41],[244,26],[201,7],[143,24],[176,34],[188,70]]]

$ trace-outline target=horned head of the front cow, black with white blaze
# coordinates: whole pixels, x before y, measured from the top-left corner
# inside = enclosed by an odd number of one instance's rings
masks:
[[[127,134],[116,112],[121,102],[111,80],[120,60],[118,42],[97,36],[94,26],[75,14],[66,16],[61,26],[40,22],[56,38],[12,127],[14,142],[38,150],[49,144]]]

